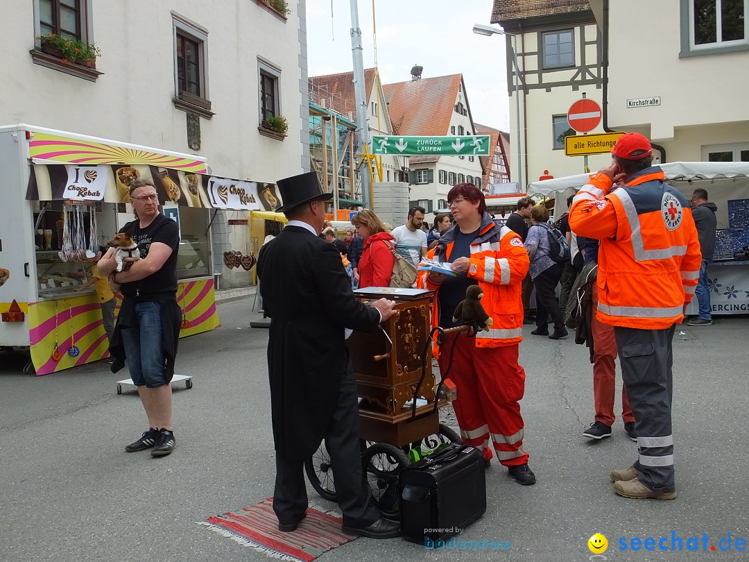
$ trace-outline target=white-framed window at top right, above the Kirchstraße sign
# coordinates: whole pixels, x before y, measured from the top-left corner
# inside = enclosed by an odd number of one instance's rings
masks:
[[[749,46],[749,0],[686,1],[690,49]]]

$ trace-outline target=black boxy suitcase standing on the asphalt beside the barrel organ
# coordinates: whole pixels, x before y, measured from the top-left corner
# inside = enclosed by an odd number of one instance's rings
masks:
[[[424,544],[458,534],[486,511],[484,455],[452,443],[401,471],[401,529],[405,540]]]

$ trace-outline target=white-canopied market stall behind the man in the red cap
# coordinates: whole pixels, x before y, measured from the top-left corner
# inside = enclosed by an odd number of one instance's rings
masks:
[[[715,255],[708,266],[712,315],[749,312],[749,162],[670,162],[660,164],[666,181],[689,201],[698,187],[708,192],[718,211]],[[547,196],[562,202],[588,181],[589,174],[534,181],[531,196]],[[692,299],[687,314],[697,314]]]

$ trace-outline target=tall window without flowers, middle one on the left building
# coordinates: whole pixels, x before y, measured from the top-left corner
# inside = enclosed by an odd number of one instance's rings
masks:
[[[208,100],[207,29],[172,12],[172,35],[175,43],[175,97],[188,103]]]

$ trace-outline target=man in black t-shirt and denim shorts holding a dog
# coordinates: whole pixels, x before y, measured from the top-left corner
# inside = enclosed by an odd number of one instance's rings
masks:
[[[175,221],[159,212],[159,196],[152,181],[130,184],[130,202],[136,220],[120,232],[130,232],[141,259],[127,271],[115,272],[115,248],[99,262],[99,271],[121,285],[123,295],[110,351],[112,372],[127,366],[130,378],[148,417],[148,431],[127,445],[129,453],[150,449],[151,456],[172,453],[176,445],[172,431],[172,375],[181,327],[177,303],[177,253],[179,229]]]

